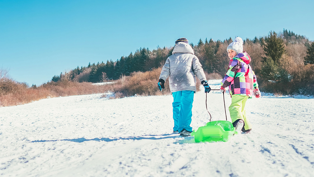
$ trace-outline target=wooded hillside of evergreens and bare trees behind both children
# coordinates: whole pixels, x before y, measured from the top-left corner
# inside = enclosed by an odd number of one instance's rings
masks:
[[[203,69],[208,73],[224,76],[229,63],[226,48],[232,38],[224,41],[202,39],[197,44],[191,43],[195,55]],[[314,94],[314,43],[305,36],[284,30],[280,34],[270,31],[266,37],[245,39],[244,51],[251,56],[251,63],[261,89],[279,94]],[[122,56],[116,61],[93,63],[81,66],[70,72],[61,73],[52,78],[53,82],[66,79],[77,82],[104,82],[128,76],[132,72],[151,71],[163,66],[172,48],[160,48],[150,51],[140,48],[129,56]]]

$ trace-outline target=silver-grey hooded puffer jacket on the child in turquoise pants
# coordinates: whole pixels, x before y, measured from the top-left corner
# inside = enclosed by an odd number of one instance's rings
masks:
[[[183,42],[175,45],[172,55],[169,56],[163,66],[160,79],[169,77],[170,91],[192,90],[196,92],[196,77],[206,80],[201,63],[194,55],[192,47]]]

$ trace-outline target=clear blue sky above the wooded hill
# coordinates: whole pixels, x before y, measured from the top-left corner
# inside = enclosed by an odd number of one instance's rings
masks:
[[[313,7],[313,0],[0,0],[0,67],[31,86],[180,37],[196,44],[288,29],[314,40]]]

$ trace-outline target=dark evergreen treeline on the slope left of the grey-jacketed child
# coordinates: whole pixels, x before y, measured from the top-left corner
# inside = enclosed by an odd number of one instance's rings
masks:
[[[92,83],[99,83],[104,79],[116,80],[122,75],[129,76],[132,72],[151,71],[162,66],[167,57],[171,55],[172,50],[173,48],[160,48],[159,46],[152,51],[148,48],[140,48],[134,54],[131,52],[129,56],[122,56],[116,61],[108,60],[106,63],[89,63],[88,66],[77,67],[72,71],[52,77],[51,81],[57,82],[62,77],[73,81]]]

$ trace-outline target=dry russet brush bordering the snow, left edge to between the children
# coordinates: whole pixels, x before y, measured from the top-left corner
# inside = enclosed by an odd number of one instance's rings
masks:
[[[114,92],[113,96],[106,94],[101,98],[117,99],[125,96],[149,96],[170,94],[169,80],[165,81],[165,89],[160,92],[157,87],[161,68],[147,72],[134,72],[130,76],[121,76],[117,82],[106,85],[92,85],[91,83],[78,83],[62,78],[58,82],[48,82],[37,88],[28,88],[24,83],[15,82],[5,77],[0,80],[0,106],[15,106],[32,101],[59,96],[84,95]],[[221,79],[217,73],[206,73],[207,79]],[[197,91],[200,81],[197,79]]]

